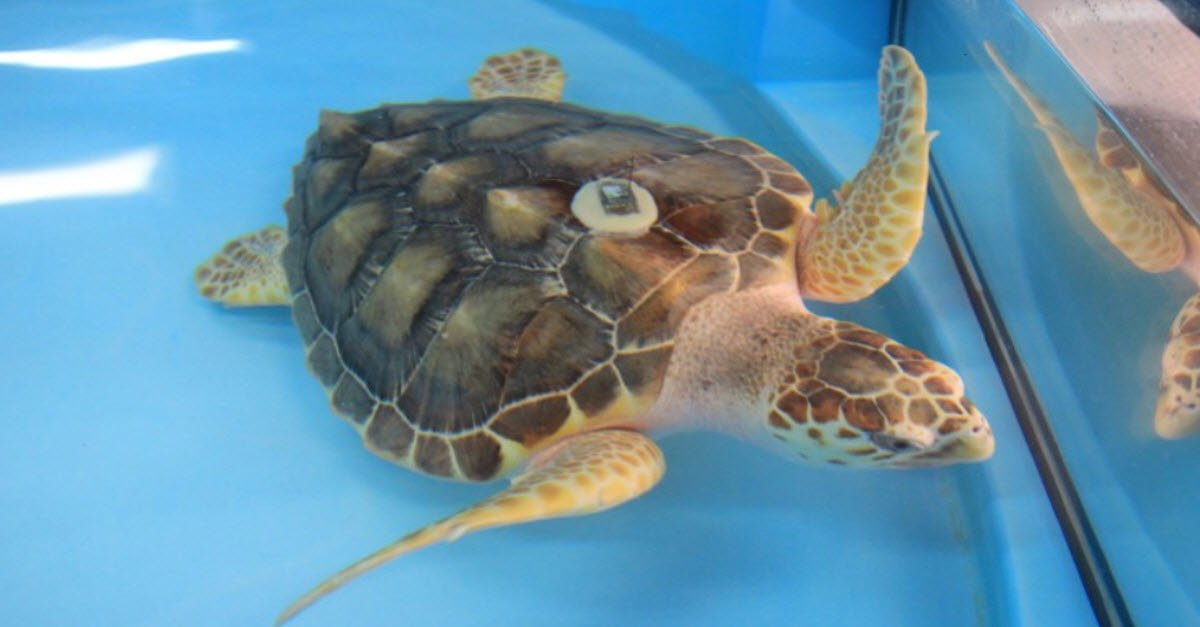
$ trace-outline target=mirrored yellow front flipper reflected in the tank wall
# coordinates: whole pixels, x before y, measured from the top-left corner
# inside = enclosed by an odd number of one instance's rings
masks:
[[[1140,185],[1130,184],[1139,175],[1142,179],[1145,177],[1140,167],[1121,167],[1124,157],[1133,155],[1112,153],[1111,139],[1097,137],[1102,159],[1117,166],[1105,167],[1105,163],[1072,137],[1050,108],[1009,70],[991,43],[984,42],[984,49],[1037,119],[1038,127],[1050,141],[1063,173],[1079,197],[1079,204],[1096,228],[1134,265],[1147,273],[1163,273],[1178,267],[1187,247],[1172,216],[1176,209],[1160,195],[1146,193],[1138,189]]]

